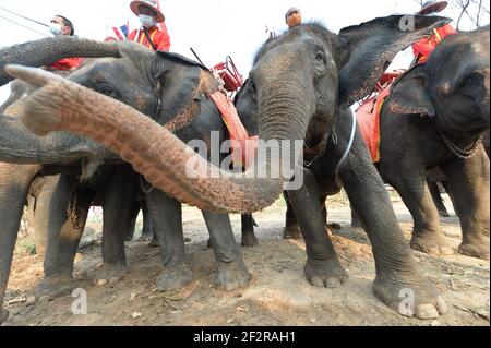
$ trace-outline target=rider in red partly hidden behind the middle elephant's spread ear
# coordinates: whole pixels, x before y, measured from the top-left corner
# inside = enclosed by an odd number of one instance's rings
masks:
[[[434,15],[445,10],[447,5],[447,1],[427,1],[417,14]],[[452,24],[446,24],[434,29],[434,34],[431,37],[423,37],[421,40],[414,44],[412,53],[415,55],[415,61],[412,62],[412,65],[427,62],[436,46],[439,46],[445,37],[455,34],[457,34],[457,31],[455,31]]]

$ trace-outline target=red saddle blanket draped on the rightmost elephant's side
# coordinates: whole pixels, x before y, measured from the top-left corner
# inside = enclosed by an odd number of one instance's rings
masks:
[[[358,127],[373,163],[380,161],[380,111],[391,94],[392,83],[402,72],[385,73],[376,84],[375,93],[360,103],[356,110]]]

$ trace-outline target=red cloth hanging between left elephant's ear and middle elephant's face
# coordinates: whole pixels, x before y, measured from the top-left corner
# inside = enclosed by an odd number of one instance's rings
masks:
[[[254,160],[259,137],[249,136],[229,97],[220,91],[211,94],[209,97],[220,111],[221,119],[228,129],[233,166],[248,168]]]

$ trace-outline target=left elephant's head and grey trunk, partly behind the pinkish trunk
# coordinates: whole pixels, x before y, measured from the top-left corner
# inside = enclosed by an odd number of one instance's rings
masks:
[[[0,51],[0,67],[9,62],[43,67],[59,58],[82,56],[83,65],[67,76],[82,86],[112,97],[177,131],[200,113],[200,96],[216,88],[216,81],[203,67],[184,57],[153,53],[142,45],[125,41],[100,44],[72,38],[50,38]],[[38,56],[35,55],[40,52]],[[37,57],[33,59],[32,57]],[[0,72],[0,82],[11,77]],[[81,158],[116,159],[104,146],[71,133],[34,136],[16,113],[23,100],[0,116],[0,160],[16,164],[59,164]]]

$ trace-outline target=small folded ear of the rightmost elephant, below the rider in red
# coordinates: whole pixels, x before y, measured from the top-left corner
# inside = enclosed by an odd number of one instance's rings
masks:
[[[428,81],[424,65],[415,67],[397,80],[388,99],[391,112],[434,117],[436,110],[427,87]]]

